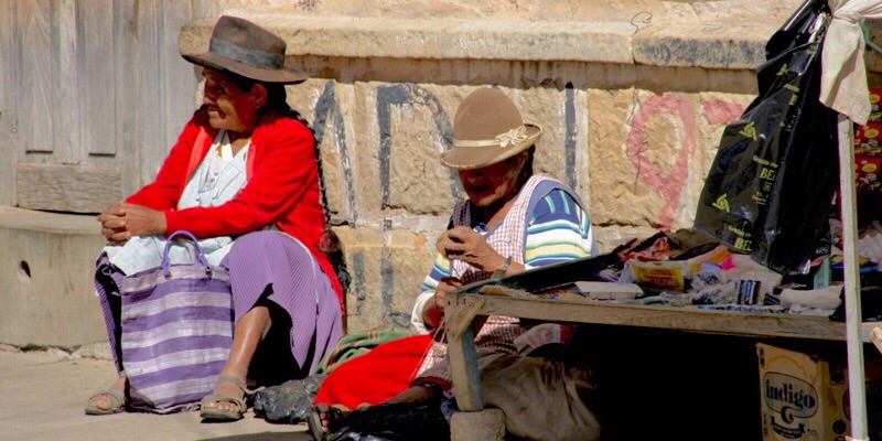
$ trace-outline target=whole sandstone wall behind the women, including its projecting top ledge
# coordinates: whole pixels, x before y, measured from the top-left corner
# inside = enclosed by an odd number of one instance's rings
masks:
[[[462,196],[438,157],[470,92],[498,87],[544,127],[537,171],[577,189],[606,250],[691,225],[722,129],[754,98],[752,68],[792,10],[765,7],[757,21],[731,2],[243,4],[224,6],[284,37],[288,63],[312,76],[289,101],[321,141],[354,276],[351,331],[408,325]],[[213,23],[185,26],[182,51],[204,49]]]

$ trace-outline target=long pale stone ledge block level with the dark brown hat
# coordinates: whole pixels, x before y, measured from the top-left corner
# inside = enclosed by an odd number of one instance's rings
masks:
[[[299,17],[290,13],[245,17],[288,43],[288,55],[433,60],[523,60],[631,63],[626,22],[392,19]],[[181,30],[182,53],[207,47],[214,19]]]

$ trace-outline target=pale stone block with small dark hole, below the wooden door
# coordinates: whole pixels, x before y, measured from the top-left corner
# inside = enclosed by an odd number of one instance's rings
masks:
[[[106,340],[93,284],[103,244],[93,216],[0,207],[0,342],[74,347]]]

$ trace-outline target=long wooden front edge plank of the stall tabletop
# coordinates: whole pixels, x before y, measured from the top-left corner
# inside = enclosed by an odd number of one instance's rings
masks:
[[[581,303],[561,300],[462,294],[485,301],[480,314],[510,315],[545,321],[596,323],[624,326],[717,333],[845,341],[843,323],[827,319],[785,314],[745,314],[692,308]],[[867,326],[869,326],[868,324]],[[869,342],[869,330],[863,337]]]

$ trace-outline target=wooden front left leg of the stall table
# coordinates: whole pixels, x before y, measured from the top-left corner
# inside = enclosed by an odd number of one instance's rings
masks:
[[[455,292],[448,293],[444,298],[447,326],[458,330],[448,333],[448,365],[453,379],[456,405],[464,411],[477,411],[484,408],[481,374],[477,370],[475,354],[475,335],[472,331],[474,312],[481,309],[480,300],[460,297]]]

